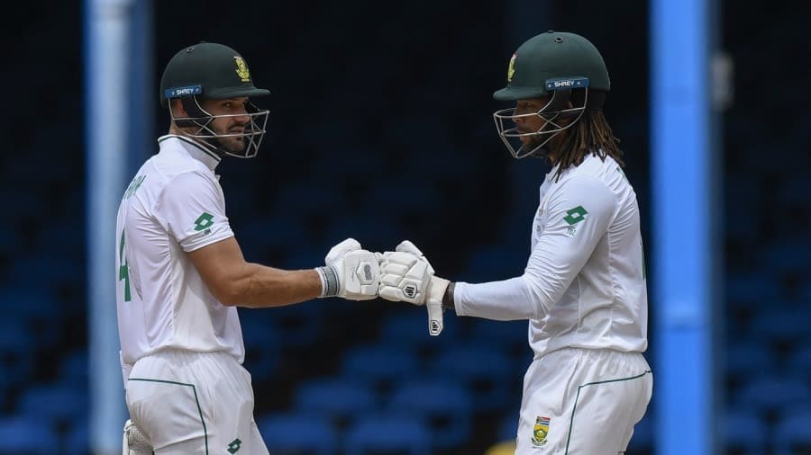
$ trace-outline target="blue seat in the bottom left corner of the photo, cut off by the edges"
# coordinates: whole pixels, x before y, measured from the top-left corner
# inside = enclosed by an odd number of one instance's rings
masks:
[[[59,437],[43,419],[5,417],[0,419],[0,453],[52,455],[59,453]]]

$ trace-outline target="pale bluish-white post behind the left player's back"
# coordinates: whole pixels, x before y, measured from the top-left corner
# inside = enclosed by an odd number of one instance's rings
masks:
[[[115,215],[127,178],[132,0],[86,0],[89,444],[121,452],[126,418],[115,316]]]

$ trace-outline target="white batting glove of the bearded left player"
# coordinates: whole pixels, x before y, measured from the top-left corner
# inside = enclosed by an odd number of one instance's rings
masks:
[[[321,297],[370,300],[378,297],[380,269],[374,253],[361,248],[354,238],[333,246],[323,267],[315,271],[321,278]]]

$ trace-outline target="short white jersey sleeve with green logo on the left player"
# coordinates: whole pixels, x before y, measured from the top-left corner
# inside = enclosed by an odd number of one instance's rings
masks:
[[[155,209],[183,251],[195,251],[233,236],[225,216],[223,190],[209,175],[178,174],[164,187]]]

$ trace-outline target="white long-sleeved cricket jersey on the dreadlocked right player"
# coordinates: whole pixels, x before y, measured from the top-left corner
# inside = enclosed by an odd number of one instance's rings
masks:
[[[636,194],[611,157],[588,156],[541,185],[520,277],[455,289],[460,316],[529,319],[539,357],[564,347],[644,352],[648,298]]]

